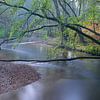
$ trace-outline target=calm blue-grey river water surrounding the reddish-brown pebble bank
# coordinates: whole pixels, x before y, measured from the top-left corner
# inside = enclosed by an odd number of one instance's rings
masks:
[[[11,45],[3,48],[5,49],[0,51],[0,56],[4,59],[88,56],[72,51],[68,51],[65,55],[63,50],[41,44],[22,44],[15,50],[11,50]],[[26,87],[0,95],[0,100],[100,100],[100,60],[27,64],[41,74],[41,79]]]

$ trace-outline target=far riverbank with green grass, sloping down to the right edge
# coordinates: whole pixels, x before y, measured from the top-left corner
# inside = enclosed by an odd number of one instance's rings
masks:
[[[40,43],[51,45],[56,48],[63,48],[66,50],[68,50],[68,49],[75,50],[75,51],[84,52],[84,53],[95,55],[95,56],[100,56],[100,46],[96,45],[96,44],[89,44],[86,46],[83,46],[83,45],[72,46],[72,45],[68,44],[68,45],[62,46],[62,45],[60,45],[60,41],[58,38],[50,38],[48,40],[41,41]]]

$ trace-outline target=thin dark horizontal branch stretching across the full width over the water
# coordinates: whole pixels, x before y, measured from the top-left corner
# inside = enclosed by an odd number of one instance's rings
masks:
[[[55,61],[73,61],[73,60],[78,60],[78,59],[99,59],[100,56],[90,56],[90,57],[75,57],[75,58],[65,58],[65,59],[50,59],[50,60],[0,60],[1,62],[55,62]]]

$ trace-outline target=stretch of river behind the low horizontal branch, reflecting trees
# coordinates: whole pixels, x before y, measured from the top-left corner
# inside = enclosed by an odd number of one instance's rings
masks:
[[[0,54],[5,53],[11,56],[13,59],[53,59],[53,58],[71,58],[75,56],[87,56],[87,54],[83,54],[75,51],[66,51],[64,49],[52,48],[48,45],[42,44],[20,44],[13,48],[12,44],[3,45],[0,51]],[[9,58],[8,58],[9,59]]]

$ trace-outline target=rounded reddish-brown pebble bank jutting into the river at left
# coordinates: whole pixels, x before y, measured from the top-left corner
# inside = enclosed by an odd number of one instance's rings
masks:
[[[28,85],[39,79],[39,74],[28,65],[0,62],[0,94]]]

